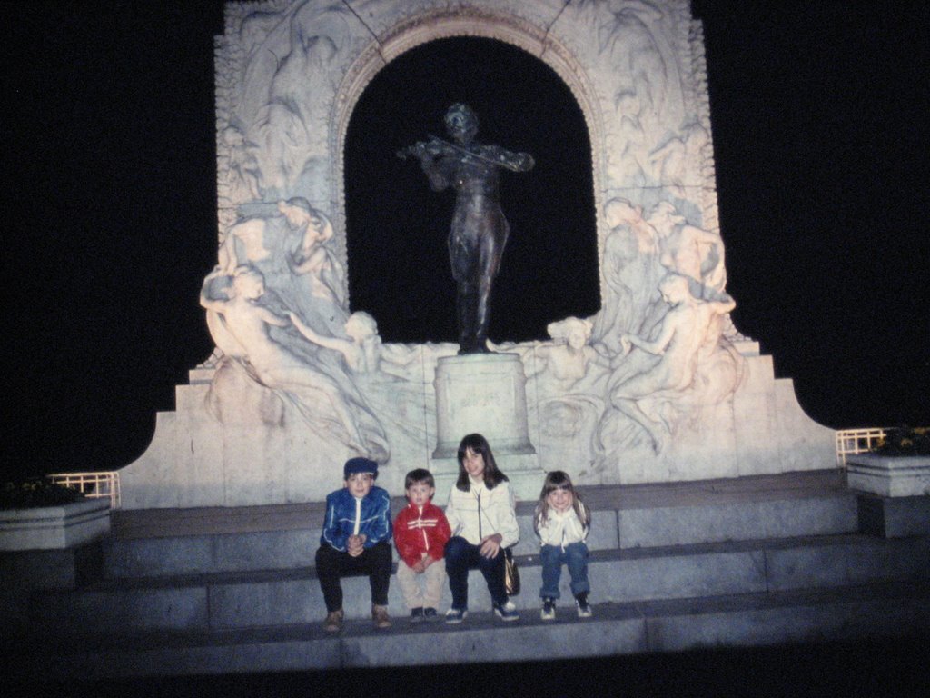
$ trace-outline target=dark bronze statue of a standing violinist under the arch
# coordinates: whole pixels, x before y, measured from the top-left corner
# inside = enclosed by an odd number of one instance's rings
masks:
[[[489,351],[491,288],[510,231],[500,208],[500,168],[525,172],[535,163],[530,154],[475,141],[478,117],[465,104],[449,107],[445,128],[453,142],[431,137],[397,155],[416,157],[433,191],[450,186],[456,191],[448,245],[458,284],[458,353],[484,353]]]

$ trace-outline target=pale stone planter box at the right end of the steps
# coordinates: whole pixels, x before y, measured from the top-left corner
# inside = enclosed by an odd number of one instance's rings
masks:
[[[859,453],[846,458],[852,490],[883,497],[930,495],[930,456],[883,456]]]

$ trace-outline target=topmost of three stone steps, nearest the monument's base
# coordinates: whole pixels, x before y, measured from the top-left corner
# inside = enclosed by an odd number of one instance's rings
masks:
[[[751,480],[755,488],[714,480],[676,487],[585,489],[592,509],[588,546],[599,551],[857,531],[856,497],[833,471],[801,477],[803,486],[796,475],[791,486],[777,477],[738,480]],[[403,500],[393,501],[395,514],[403,505]],[[322,505],[247,508],[259,510],[248,525],[262,530],[225,530],[234,526],[234,517],[247,516],[241,511],[117,513],[115,534],[103,543],[103,575],[121,579],[312,567]],[[533,509],[533,503],[517,506],[518,556],[538,552]],[[268,520],[256,523],[259,515]]]

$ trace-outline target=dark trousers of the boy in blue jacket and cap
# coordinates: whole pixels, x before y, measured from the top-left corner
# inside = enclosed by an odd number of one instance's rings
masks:
[[[323,590],[326,611],[342,608],[342,577],[365,575],[371,584],[371,602],[376,606],[388,605],[388,586],[391,584],[391,544],[381,541],[365,548],[359,557],[340,552],[329,545],[316,551],[316,576]]]

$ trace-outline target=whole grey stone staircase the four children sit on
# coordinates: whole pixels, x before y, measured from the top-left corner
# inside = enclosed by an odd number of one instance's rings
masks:
[[[533,503],[517,507],[523,591],[512,601],[519,623],[493,618],[474,571],[465,624],[408,624],[392,584],[394,625],[376,631],[367,619],[367,580],[350,578],[343,580],[349,620],[336,637],[322,629],[326,611],[312,567],[322,504],[129,511],[114,512],[113,533],[95,554],[73,558],[85,562],[71,582],[33,584],[5,651],[19,656],[14,664],[27,674],[128,678],[592,657],[930,630],[926,497],[896,501],[898,513],[889,516],[905,524],[883,521],[881,530],[897,531],[891,538],[860,532],[875,528],[876,503],[861,503],[838,471],[581,491],[593,510],[589,620],[575,617],[567,574],[556,621],[539,620]]]

